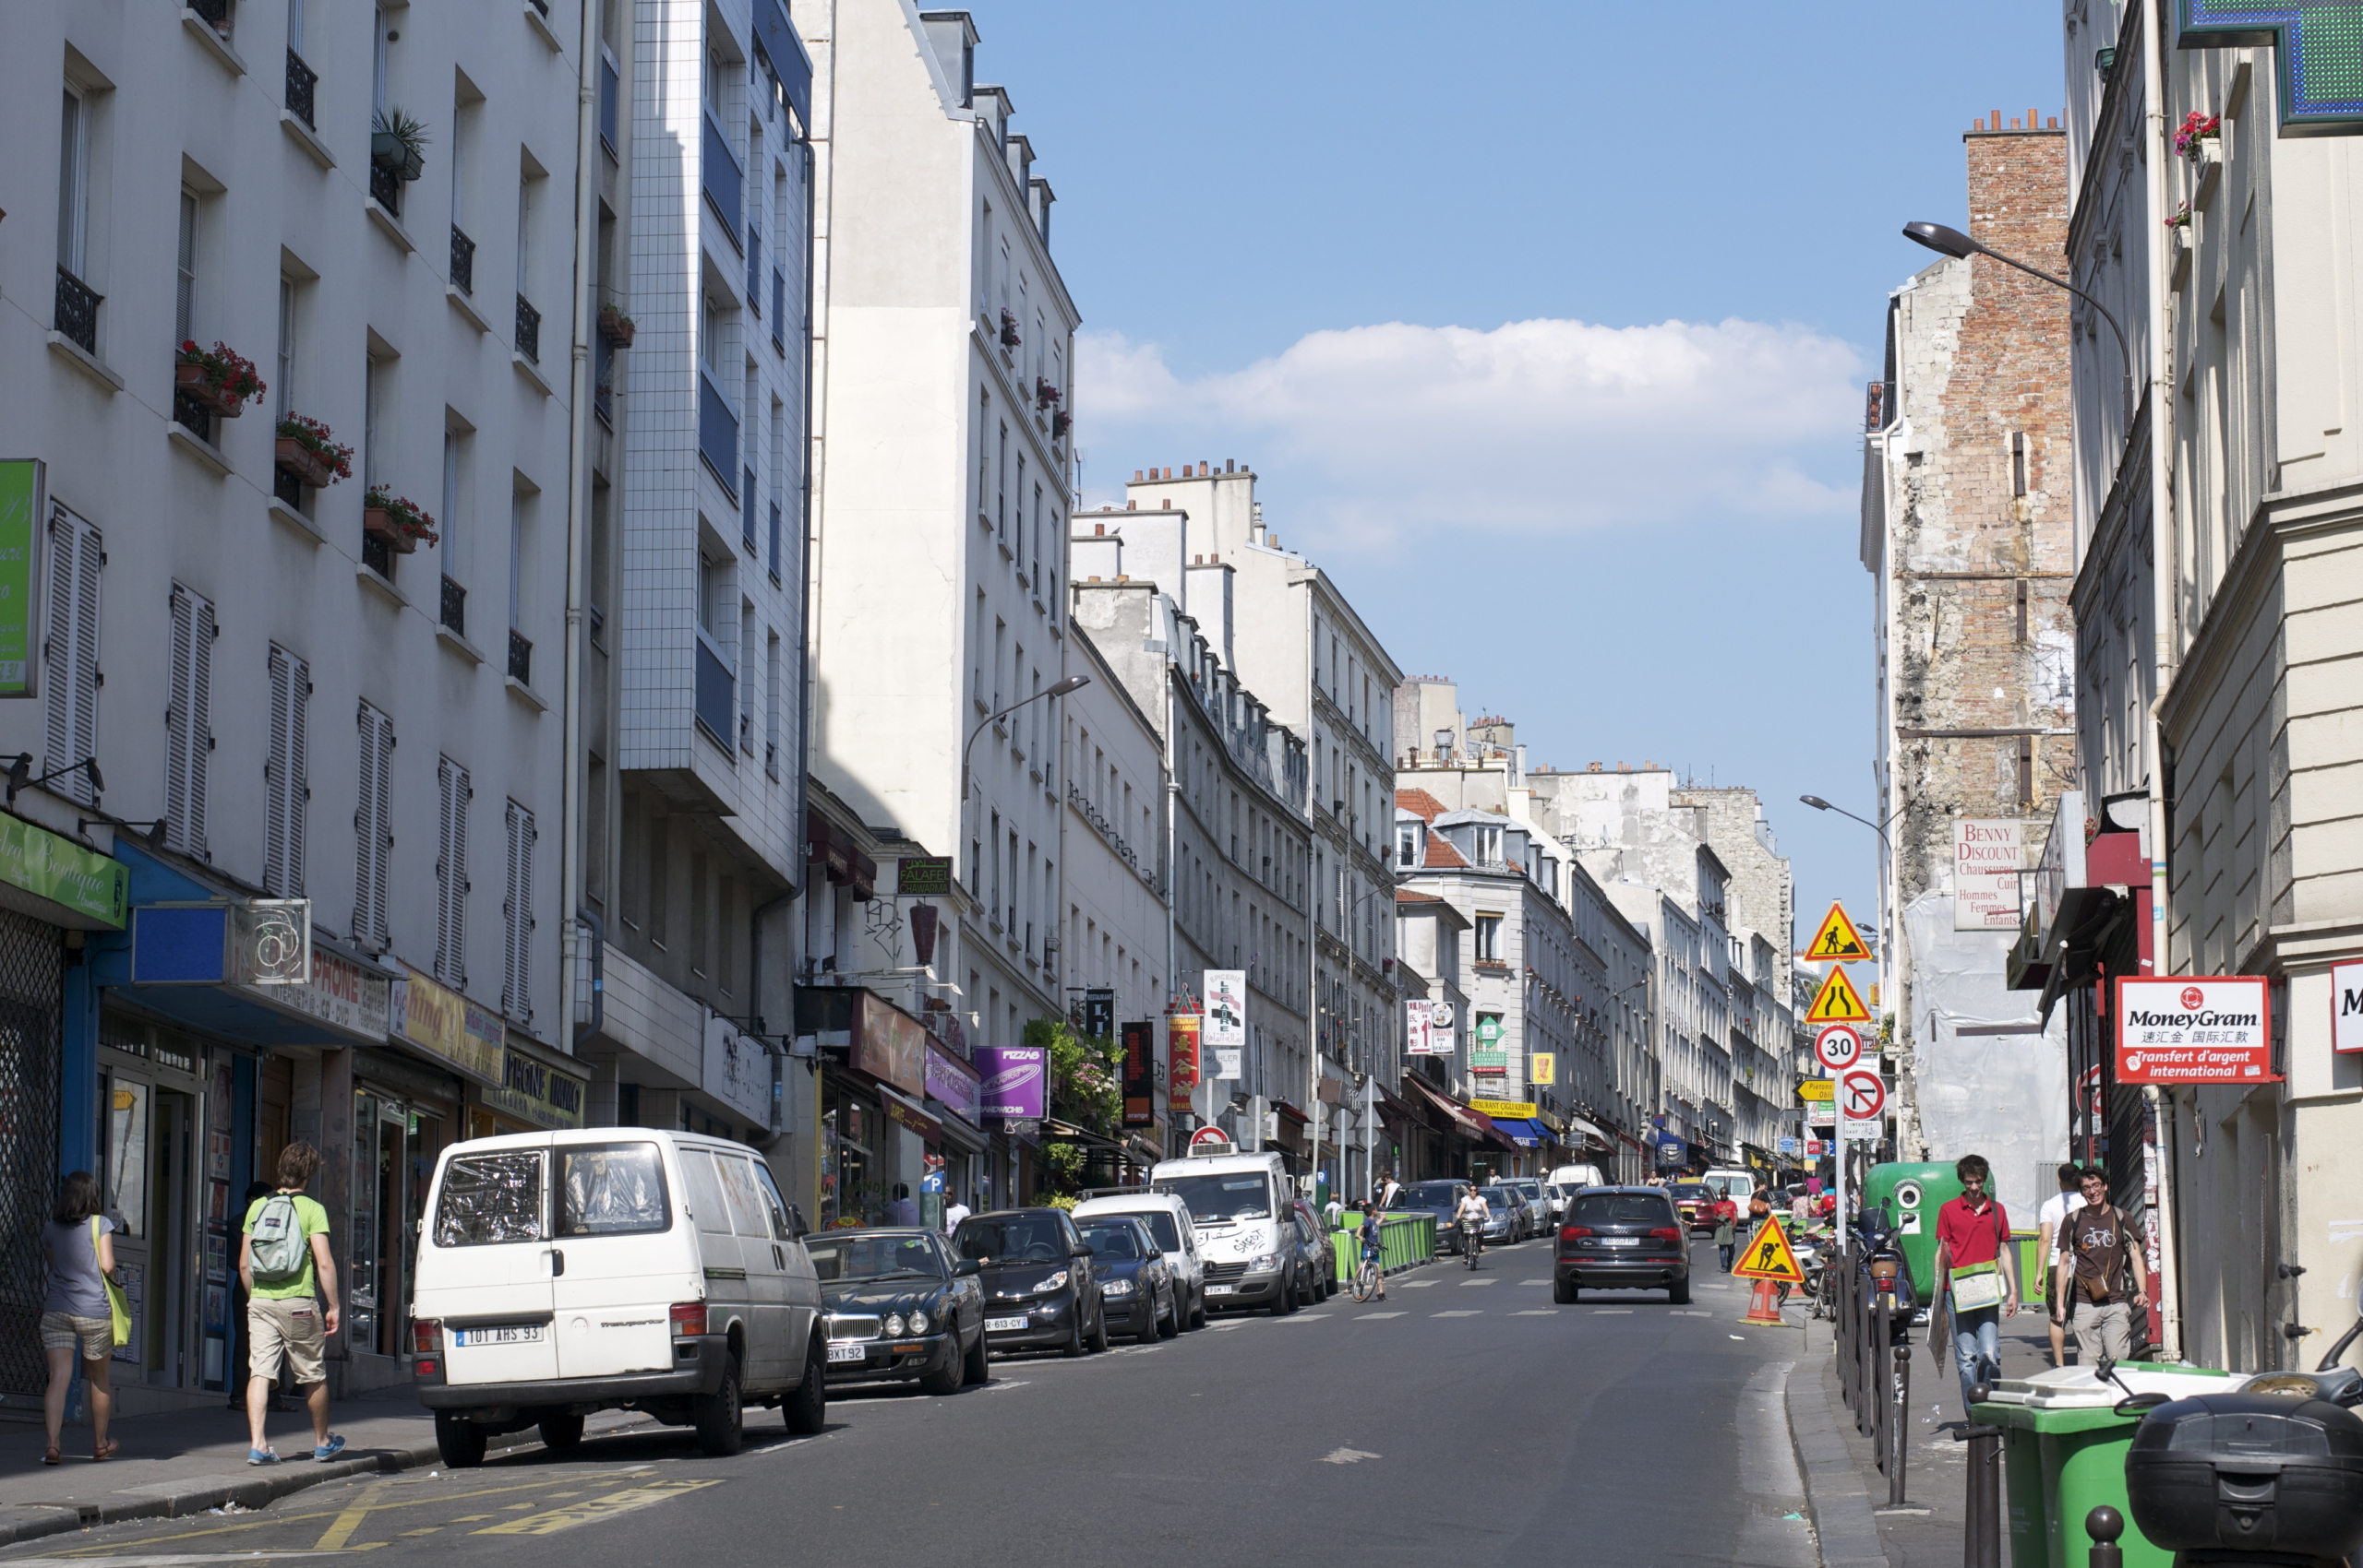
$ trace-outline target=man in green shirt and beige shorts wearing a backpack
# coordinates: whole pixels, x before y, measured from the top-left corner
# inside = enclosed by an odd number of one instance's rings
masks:
[[[305,1389],[305,1405],[312,1407],[312,1457],[333,1459],[345,1448],[345,1438],[328,1433],[328,1334],[336,1332],[338,1318],[328,1211],[302,1195],[317,1169],[317,1148],[288,1143],[279,1150],[279,1188],[246,1209],[239,1280],[246,1285],[250,1344],[248,1464],[279,1464],[279,1452],[262,1436],[262,1415],[269,1410],[281,1358]]]

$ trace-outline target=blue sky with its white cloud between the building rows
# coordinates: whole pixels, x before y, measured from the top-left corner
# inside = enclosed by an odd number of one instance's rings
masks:
[[[1274,531],[1534,763],[1751,784],[1874,909],[1860,383],[2058,0],[978,0],[1059,194],[1085,496],[1248,458]]]

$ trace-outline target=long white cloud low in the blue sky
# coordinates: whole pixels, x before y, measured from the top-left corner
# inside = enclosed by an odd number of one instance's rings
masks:
[[[1222,456],[1285,484],[1285,527],[1311,524],[1328,545],[1427,527],[1822,520],[1853,505],[1843,453],[1860,430],[1862,359],[1801,326],[1392,321],[1309,333],[1193,380],[1120,333],[1085,333],[1075,359],[1094,505],[1134,468]]]

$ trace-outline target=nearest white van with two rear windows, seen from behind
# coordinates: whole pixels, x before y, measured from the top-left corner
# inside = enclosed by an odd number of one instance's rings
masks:
[[[803,1223],[744,1143],[595,1126],[454,1143],[418,1223],[411,1381],[444,1464],[593,1410],[643,1410],[735,1455],[744,1405],[820,1431],[825,1337]]]

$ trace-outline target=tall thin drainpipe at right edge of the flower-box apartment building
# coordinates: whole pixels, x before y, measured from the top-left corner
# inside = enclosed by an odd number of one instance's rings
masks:
[[[577,912],[584,895],[584,819],[581,819],[581,758],[584,758],[584,538],[588,534],[591,508],[591,312],[598,243],[598,26],[595,0],[581,0],[581,31],[574,38],[579,54],[574,71],[574,359],[567,373],[567,640],[565,640],[565,692],[560,697],[560,734],[565,746],[565,784],[560,789],[560,855],[558,855],[558,907],[567,912],[558,928],[558,994],[567,1015],[567,1048],[577,1044],[574,1032],[574,978],[581,971],[581,923]],[[595,824],[607,831],[607,824]],[[593,1006],[598,994],[593,992]],[[593,1025],[593,1032],[598,1025]]]

